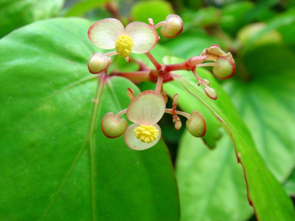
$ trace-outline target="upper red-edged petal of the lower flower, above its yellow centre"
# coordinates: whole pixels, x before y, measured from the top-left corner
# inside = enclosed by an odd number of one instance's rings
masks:
[[[127,108],[127,118],[133,123],[154,125],[165,112],[165,99],[154,91],[146,90],[137,95]]]

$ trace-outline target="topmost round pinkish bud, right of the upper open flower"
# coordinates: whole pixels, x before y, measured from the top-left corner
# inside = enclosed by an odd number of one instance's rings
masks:
[[[183,30],[183,22],[176,14],[170,14],[166,17],[165,22],[160,30],[165,38],[174,38]]]

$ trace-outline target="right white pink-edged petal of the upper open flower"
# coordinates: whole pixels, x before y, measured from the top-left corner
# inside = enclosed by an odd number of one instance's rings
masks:
[[[159,41],[155,29],[143,22],[131,22],[126,26],[125,34],[133,39],[132,52],[136,54],[149,52]]]

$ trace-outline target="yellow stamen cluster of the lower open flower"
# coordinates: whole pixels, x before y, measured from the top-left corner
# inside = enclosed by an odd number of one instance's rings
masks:
[[[135,128],[133,132],[135,133],[136,138],[144,143],[151,143],[159,136],[159,131],[152,125],[140,125]]]

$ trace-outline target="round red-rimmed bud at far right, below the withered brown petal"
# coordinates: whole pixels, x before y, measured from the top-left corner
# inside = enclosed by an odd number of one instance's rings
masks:
[[[220,79],[228,79],[234,76],[235,64],[228,57],[218,57],[212,69],[213,74]]]

